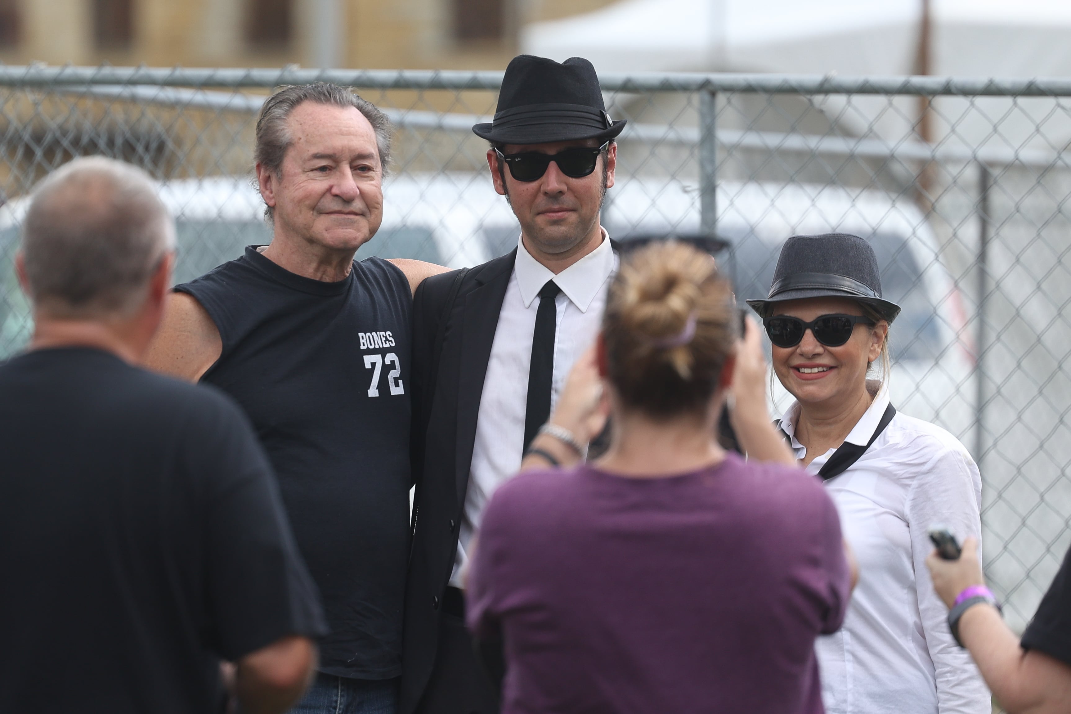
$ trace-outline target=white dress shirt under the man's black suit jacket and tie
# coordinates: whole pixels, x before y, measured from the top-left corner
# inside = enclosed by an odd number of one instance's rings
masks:
[[[457,558],[450,577],[451,586],[462,587],[461,574],[468,561],[466,549],[480,528],[487,501],[495,489],[521,468],[525,410],[528,406],[528,367],[540,289],[552,278],[561,288],[555,299],[558,312],[550,390],[550,410],[554,411],[570,369],[599,334],[606,309],[606,292],[617,267],[618,257],[610,247],[605,229],[599,247],[557,275],[531,257],[524,241],[519,242],[483,381],[472,466],[465,493],[465,515],[457,537]]]

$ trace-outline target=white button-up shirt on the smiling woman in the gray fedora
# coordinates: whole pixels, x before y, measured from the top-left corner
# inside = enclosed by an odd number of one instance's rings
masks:
[[[889,393],[884,386],[846,441],[865,445]],[[781,428],[797,458],[799,402]],[[834,450],[815,458],[817,473]],[[826,482],[844,537],[859,560],[859,584],[844,626],[815,651],[829,714],[989,714],[990,693],[966,650],[949,633],[926,556],[927,530],[948,526],[962,543],[979,537],[982,482],[970,454],[945,429],[896,412],[874,444]]]

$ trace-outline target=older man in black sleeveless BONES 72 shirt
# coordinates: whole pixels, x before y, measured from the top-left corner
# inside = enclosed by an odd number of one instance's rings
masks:
[[[148,364],[215,384],[278,474],[331,634],[296,711],[392,713],[402,669],[412,290],[437,265],[355,261],[382,219],[386,116],[334,85],[257,122],[268,246],[180,285]]]

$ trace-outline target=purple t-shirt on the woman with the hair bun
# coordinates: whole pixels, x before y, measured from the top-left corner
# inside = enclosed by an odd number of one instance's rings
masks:
[[[820,482],[745,464],[509,481],[484,513],[468,624],[504,640],[502,714],[823,711],[814,640],[848,603]]]

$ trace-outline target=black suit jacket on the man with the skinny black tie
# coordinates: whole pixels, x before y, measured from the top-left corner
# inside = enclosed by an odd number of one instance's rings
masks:
[[[427,686],[453,572],[483,381],[516,250],[425,279],[412,310],[412,466],[417,491],[406,583],[398,711]],[[451,299],[452,298],[452,299]]]

